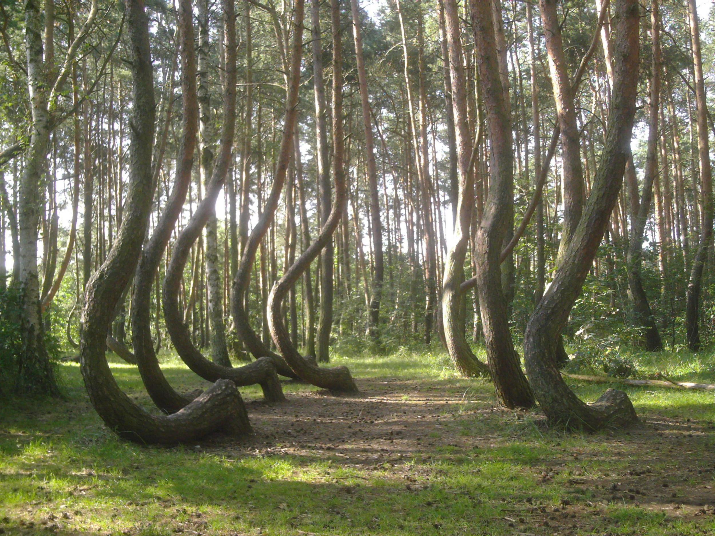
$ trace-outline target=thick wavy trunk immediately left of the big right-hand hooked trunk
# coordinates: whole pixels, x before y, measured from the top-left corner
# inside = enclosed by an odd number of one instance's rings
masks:
[[[503,405],[532,407],[533,393],[521,370],[509,331],[500,266],[502,245],[511,225],[508,206],[513,204],[511,118],[499,72],[492,10],[488,2],[477,1],[472,1],[471,9],[491,142],[491,181],[483,216],[476,229],[474,252],[484,340],[488,366]]]

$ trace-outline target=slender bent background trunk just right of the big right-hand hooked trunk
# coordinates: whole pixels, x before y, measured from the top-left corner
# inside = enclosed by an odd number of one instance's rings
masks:
[[[633,312],[641,329],[641,336],[649,352],[663,348],[661,336],[648,302],[646,289],[641,279],[641,264],[643,259],[643,239],[646,221],[651,212],[653,185],[658,174],[658,120],[661,95],[661,45],[658,16],[658,0],[651,0],[651,104],[649,111],[648,150],[646,153],[646,169],[643,181],[643,194],[638,203],[637,212],[631,216],[631,235],[628,243],[626,264],[628,266],[628,289],[631,292]],[[637,188],[637,187],[636,187]],[[635,194],[637,195],[637,189]],[[661,237],[661,240],[663,238]]]

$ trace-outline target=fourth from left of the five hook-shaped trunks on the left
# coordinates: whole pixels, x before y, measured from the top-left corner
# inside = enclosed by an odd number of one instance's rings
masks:
[[[292,46],[290,73],[287,76],[288,93],[286,97],[285,119],[283,121],[280,154],[275,169],[275,175],[273,177],[273,184],[271,185],[270,194],[266,199],[263,213],[247,239],[231,288],[231,312],[233,314],[234,327],[241,341],[246,345],[254,357],[270,357],[273,360],[279,374],[294,378],[297,376],[291,367],[289,367],[285,362],[285,359],[280,357],[280,355],[275,352],[271,352],[270,349],[263,344],[261,339],[258,338],[256,332],[251,327],[244,299],[250,283],[251,271],[253,269],[253,262],[256,258],[256,252],[258,251],[260,242],[273,221],[275,211],[278,207],[280,192],[283,189],[283,184],[285,184],[285,177],[287,175],[288,164],[290,162],[293,149],[293,128],[295,126],[295,122],[297,121],[298,114],[297,104],[298,89],[300,86],[300,60],[302,58],[302,50],[300,48],[302,46],[300,39],[302,39],[303,24],[302,2],[300,2],[300,11],[300,18],[298,18],[296,8],[296,13],[294,14],[292,23],[295,27],[297,41],[294,41]],[[298,36],[299,33],[300,36]]]

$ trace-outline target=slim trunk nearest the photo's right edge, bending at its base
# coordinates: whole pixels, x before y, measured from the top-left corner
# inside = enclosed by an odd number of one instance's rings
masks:
[[[705,263],[708,257],[708,249],[713,236],[713,190],[708,139],[708,109],[703,78],[703,61],[700,54],[700,26],[695,0],[688,0],[688,11],[693,49],[693,64],[695,68],[695,104],[698,114],[698,158],[700,163],[700,186],[703,201],[701,216],[702,232],[698,251],[690,272],[685,310],[685,327],[688,346],[691,350],[695,351],[700,348],[700,292]]]

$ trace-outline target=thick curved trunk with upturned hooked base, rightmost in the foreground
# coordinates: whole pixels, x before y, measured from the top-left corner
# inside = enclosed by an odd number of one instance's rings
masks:
[[[598,430],[636,420],[628,396],[609,389],[596,405],[586,405],[569,389],[556,364],[561,330],[603,239],[608,219],[623,184],[636,111],[638,80],[638,3],[615,0],[614,84],[608,112],[608,131],[601,162],[583,214],[563,253],[553,282],[531,315],[524,335],[526,371],[536,399],[552,423]]]

